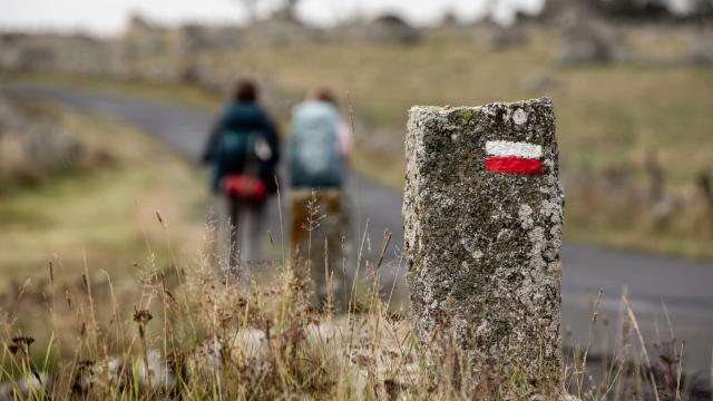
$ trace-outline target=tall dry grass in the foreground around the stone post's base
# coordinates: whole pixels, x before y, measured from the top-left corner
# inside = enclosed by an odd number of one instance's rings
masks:
[[[566,371],[528,378],[465,360],[447,329],[418,339],[377,295],[378,270],[370,263],[361,273],[362,294],[334,313],[333,295],[321,305],[310,302],[310,274],[294,260],[272,266],[273,280],[260,284],[218,273],[223,262],[212,262],[208,252],[168,265],[155,261],[173,254],[170,247],[154,252],[140,263],[140,285],[130,292],[121,294],[108,277],[91,280],[89,268],[74,284],[62,283],[50,266],[42,287],[17,294],[2,325],[0,397],[560,399],[551,374],[585,400],[710,397],[682,374],[683,344],[672,338],[654,353],[644,343],[626,297],[612,356],[587,354],[597,300],[589,342],[567,356]],[[28,310],[46,316],[32,330],[21,324]],[[36,342],[38,331],[51,335]]]

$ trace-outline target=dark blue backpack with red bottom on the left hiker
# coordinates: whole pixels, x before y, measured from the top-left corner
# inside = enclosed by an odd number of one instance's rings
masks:
[[[217,168],[224,194],[233,198],[263,200],[267,195],[262,179],[263,162],[272,150],[261,131],[226,130],[217,144]]]

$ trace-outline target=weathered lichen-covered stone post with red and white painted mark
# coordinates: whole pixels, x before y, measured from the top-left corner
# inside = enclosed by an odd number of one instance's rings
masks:
[[[473,363],[559,383],[564,195],[549,98],[413,107],[403,204],[411,314]]]

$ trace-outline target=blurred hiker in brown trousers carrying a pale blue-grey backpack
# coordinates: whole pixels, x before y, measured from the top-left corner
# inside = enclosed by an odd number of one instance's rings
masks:
[[[344,255],[350,246],[343,187],[352,134],[329,89],[312,91],[292,115],[289,166],[293,252],[311,272],[316,302],[348,303]]]

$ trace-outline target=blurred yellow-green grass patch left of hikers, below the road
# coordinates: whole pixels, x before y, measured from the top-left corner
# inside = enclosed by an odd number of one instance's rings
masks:
[[[133,280],[134,263],[165,246],[156,212],[172,226],[178,250],[198,243],[207,193],[201,173],[123,123],[64,113],[67,127],[110,162],[0,196],[0,242],[12,250],[0,253],[1,287],[43,275],[48,262],[72,278],[86,263]]]

